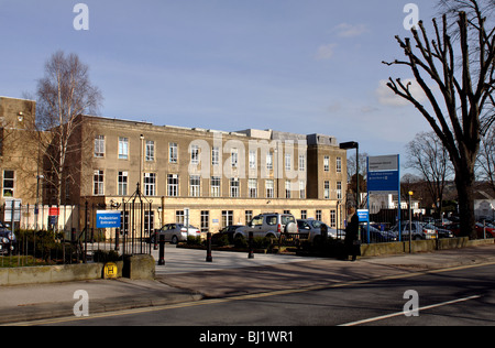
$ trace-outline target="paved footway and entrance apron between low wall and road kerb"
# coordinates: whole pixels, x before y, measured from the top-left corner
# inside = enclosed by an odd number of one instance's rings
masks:
[[[157,260],[157,254],[154,254]],[[163,306],[205,298],[284,290],[332,287],[350,282],[403,276],[446,268],[495,262],[495,244],[429,253],[363,258],[356,262],[213,251],[206,262],[202,250],[167,246],[165,265],[155,281],[97,280],[0,287],[0,324],[74,316],[85,291],[91,314]]]

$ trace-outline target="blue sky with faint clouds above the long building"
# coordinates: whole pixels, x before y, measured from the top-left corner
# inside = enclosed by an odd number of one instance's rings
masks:
[[[76,31],[73,8],[89,8]],[[429,126],[384,87],[410,72],[394,36],[408,0],[0,0],[0,95],[34,94],[45,61],[76,53],[103,93],[100,115],[226,131],[356,140],[404,153]],[[436,1],[414,1],[428,22]]]

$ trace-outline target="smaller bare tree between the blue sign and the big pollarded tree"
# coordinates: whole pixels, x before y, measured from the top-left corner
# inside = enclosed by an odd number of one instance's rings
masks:
[[[447,149],[435,132],[422,132],[407,144],[407,154],[408,167],[420,173],[437,213],[441,214],[446,183],[453,174]]]

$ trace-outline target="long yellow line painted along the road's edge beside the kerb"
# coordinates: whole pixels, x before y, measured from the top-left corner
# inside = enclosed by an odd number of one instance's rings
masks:
[[[413,273],[407,273],[407,274],[386,275],[386,276],[381,276],[381,278],[375,278],[375,279],[350,281],[350,282],[343,282],[343,283],[314,285],[314,286],[307,286],[307,287],[302,287],[302,289],[279,290],[279,291],[271,291],[271,292],[265,292],[265,293],[248,294],[248,295],[240,295],[240,296],[233,296],[233,297],[201,300],[201,301],[195,301],[195,302],[169,304],[169,305],[162,305],[162,306],[154,306],[154,307],[143,307],[143,308],[132,308],[132,309],[123,309],[123,311],[117,311],[117,312],[106,312],[106,313],[90,314],[89,317],[84,317],[84,318],[61,317],[61,318],[41,319],[41,320],[24,322],[24,323],[12,323],[12,324],[0,325],[0,326],[34,326],[34,325],[50,325],[50,324],[58,324],[58,323],[68,323],[68,322],[76,322],[76,320],[90,320],[90,319],[95,319],[95,318],[143,314],[143,313],[152,313],[152,312],[160,312],[160,311],[167,311],[167,309],[178,309],[178,308],[186,308],[186,307],[194,307],[194,306],[221,304],[221,303],[228,303],[228,302],[234,302],[234,301],[263,298],[263,297],[305,293],[305,292],[311,292],[311,291],[339,289],[339,287],[346,287],[346,286],[354,286],[354,285],[364,285],[364,284],[370,284],[373,282],[408,279],[408,278],[421,276],[421,275],[426,275],[426,274],[460,271],[460,270],[481,268],[481,267],[486,267],[486,265],[495,265],[495,262],[460,265],[460,267],[439,269],[439,270],[413,272]],[[404,313],[400,312],[400,315],[404,315]]]

